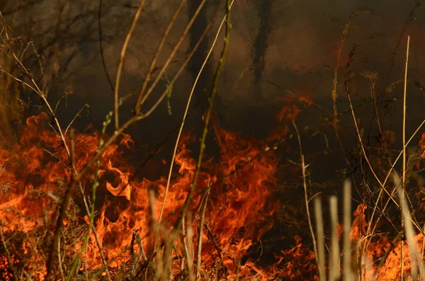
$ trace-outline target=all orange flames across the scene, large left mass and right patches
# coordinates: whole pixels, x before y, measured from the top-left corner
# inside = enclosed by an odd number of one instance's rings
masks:
[[[297,114],[293,113],[296,110],[291,113],[283,110],[279,116],[292,119]],[[0,274],[4,280],[13,278],[13,268],[23,268],[35,280],[44,279],[48,254],[45,249],[49,248],[46,245],[50,244],[57,208],[71,180],[67,152],[60,137],[46,129],[47,121],[47,115],[43,114],[29,117],[19,142],[13,145],[1,143],[0,146],[1,238],[13,241],[8,243],[7,252],[1,248]],[[166,197],[158,241],[172,243],[175,247],[171,260],[174,258],[172,272],[176,279],[183,278],[179,256],[187,251],[195,260],[200,237],[203,242],[200,270],[206,275],[228,280],[318,280],[316,256],[300,236],[295,236],[293,248],[275,255],[273,265],[261,267],[249,258],[240,263],[254,241],[271,229],[271,215],[277,202],[269,202],[269,198],[275,192],[278,158],[270,149],[265,149],[265,142],[243,139],[220,128],[217,122],[213,129],[220,158],[203,161],[186,218],[186,238],[167,241],[167,236],[173,235],[173,225],[179,218],[179,210],[186,201],[196,171],[196,160],[189,149],[193,141],[190,134],[181,139],[175,159],[178,169],[174,171]],[[281,134],[287,132],[283,130]],[[95,154],[99,137],[98,132],[76,135],[77,169],[83,168]],[[92,200],[89,196],[93,184],[91,178],[81,180],[80,190],[73,195],[74,204],[68,219],[63,222],[64,238],[60,251],[64,260],[72,261],[81,250],[84,263],[80,270],[96,270],[106,261],[111,274],[118,274],[120,267],[131,263],[135,253],[143,251],[150,258],[158,242],[154,238],[157,217],[153,215],[161,210],[166,178],[133,178],[135,168],[126,157],[133,145],[130,135],[124,134],[120,142],[108,147],[101,157],[95,231],[90,233],[84,248],[81,236],[87,233],[87,225],[90,225],[85,204],[90,205]],[[149,190],[154,191],[154,205],[151,205]],[[208,199],[205,199],[205,190],[210,190]],[[205,200],[208,208],[200,233],[200,210]],[[353,213],[349,234],[353,268],[360,268],[358,272],[363,280],[400,278],[402,243],[399,240],[391,242],[383,234],[370,238],[370,222],[365,215],[367,209],[366,205],[358,205]],[[341,232],[339,226],[339,237]],[[418,234],[415,239],[417,251],[421,251],[424,237]],[[190,247],[182,247],[183,242]],[[409,248],[406,243],[403,247],[404,273],[408,276],[411,268]]]

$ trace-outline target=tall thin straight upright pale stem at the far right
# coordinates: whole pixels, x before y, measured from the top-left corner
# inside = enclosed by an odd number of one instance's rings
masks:
[[[402,212],[402,229],[404,229],[404,189],[406,188],[406,97],[407,97],[407,66],[409,62],[409,42],[410,36],[407,36],[407,50],[406,50],[406,67],[404,69],[404,93],[403,93],[403,170],[402,170],[402,194],[400,210]],[[398,190],[397,190],[398,191]],[[400,195],[400,194],[399,194]],[[402,248],[401,248],[401,277],[404,276],[404,239],[402,237]],[[415,276],[415,275],[414,275]]]

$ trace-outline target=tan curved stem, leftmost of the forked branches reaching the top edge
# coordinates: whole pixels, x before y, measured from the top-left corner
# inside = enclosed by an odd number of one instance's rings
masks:
[[[130,29],[128,30],[128,33],[125,36],[123,48],[121,49],[121,52],[120,52],[120,59],[118,60],[117,74],[115,77],[115,88],[113,91],[113,113],[114,113],[114,120],[115,120],[115,130],[118,130],[118,128],[120,127],[118,107],[119,107],[119,98],[120,98],[119,97],[120,96],[119,94],[120,93],[120,78],[121,78],[121,72],[123,71],[125,52],[127,52],[128,42],[130,42],[133,30],[135,30],[136,23],[139,20],[140,13],[142,13],[143,6],[145,6],[145,0],[140,1],[139,7],[137,8],[135,16],[132,19]]]

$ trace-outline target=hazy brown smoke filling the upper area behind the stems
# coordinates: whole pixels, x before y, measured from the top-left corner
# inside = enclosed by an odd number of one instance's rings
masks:
[[[70,120],[85,103],[91,105],[91,122],[101,122],[111,109],[113,98],[107,76],[114,81],[123,40],[138,3],[136,0],[79,0],[72,3],[62,0],[6,1],[1,11],[6,22],[11,25],[15,35],[32,39],[44,58],[42,64],[52,102],[59,101],[64,93],[74,94],[69,96],[66,105],[60,103],[60,114],[65,120]],[[201,10],[195,26],[176,53],[174,63],[166,71],[166,78],[160,81],[153,96],[164,91],[166,80],[176,74],[199,38],[200,30],[210,21],[217,1],[208,3]],[[198,1],[192,0],[183,7],[159,54],[158,67],[166,61],[198,4]],[[133,93],[133,98],[130,97],[128,103],[123,105],[123,117],[132,114],[130,105],[177,5],[179,1],[147,1],[125,59],[120,93],[121,96]],[[344,25],[353,13],[357,13],[357,16],[348,28],[347,40],[341,52],[339,83],[342,84],[344,80],[348,54],[356,45],[356,54],[351,63],[352,87],[356,92],[353,98],[361,100],[369,95],[368,81],[360,75],[366,70],[378,74],[376,88],[380,101],[398,101],[397,88],[391,93],[385,93],[385,88],[402,78],[404,41],[407,35],[411,35],[409,74],[413,78],[409,96],[414,101],[422,101],[423,91],[415,86],[425,84],[421,81],[421,65],[425,62],[424,48],[421,47],[425,44],[422,36],[425,17],[421,11],[420,2],[395,0],[236,0],[232,7],[231,42],[218,91],[220,104],[224,106],[221,109],[227,111],[224,114],[228,115],[229,120],[244,119],[243,116],[236,116],[244,110],[233,110],[235,107],[261,104],[267,108],[285,96],[285,91],[299,95],[306,90],[310,98],[320,101],[325,108],[329,107],[336,53]],[[212,44],[223,14],[222,6],[200,50],[174,87],[169,102],[175,114],[167,115],[166,105],[159,108],[159,115],[166,116],[162,120],[167,124],[175,124],[180,119],[184,106],[182,101],[188,96],[196,71],[200,69],[205,52]],[[222,39],[222,35],[219,39]],[[205,91],[210,91],[220,51],[219,43],[201,76],[194,101],[201,100]],[[36,60],[29,58],[28,62],[31,68]],[[344,92],[344,88],[337,90]],[[344,94],[339,96],[343,98]],[[205,101],[204,98],[203,105]],[[339,105],[343,109],[346,106]]]

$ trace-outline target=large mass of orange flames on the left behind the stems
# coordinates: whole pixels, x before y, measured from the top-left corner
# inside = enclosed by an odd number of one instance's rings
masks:
[[[47,253],[39,250],[40,239],[37,236],[43,234],[43,239],[48,241],[47,237],[52,235],[58,202],[72,176],[61,139],[52,130],[45,129],[47,121],[47,116],[43,114],[29,117],[21,132],[20,141],[10,149],[7,144],[1,144],[4,148],[0,149],[0,183],[4,194],[0,198],[1,231],[8,238],[17,233],[27,238],[22,239],[21,247],[25,249],[23,255],[18,256],[21,251],[13,249],[11,259],[13,263],[26,263],[26,270],[40,279],[45,273],[43,257]],[[238,271],[239,277],[266,278],[266,273],[251,261],[239,266],[237,260],[246,254],[252,241],[260,239],[271,227],[268,225],[259,229],[258,225],[266,222],[275,207],[267,202],[267,198],[276,185],[273,175],[278,159],[270,152],[260,154],[261,149],[266,147],[263,142],[242,139],[218,126],[214,129],[221,149],[220,159],[205,160],[193,204],[189,208],[193,217],[193,237],[196,238],[199,236],[198,209],[204,191],[210,187],[210,202],[205,214],[205,225],[208,228],[203,227],[201,234],[203,270],[214,274],[212,265],[219,263],[221,259],[228,277],[235,276]],[[98,132],[78,134],[75,137],[77,170],[84,167],[95,153],[98,137]],[[162,226],[164,233],[169,233],[171,225],[179,217],[179,210],[186,200],[196,170],[196,160],[191,158],[191,151],[188,149],[190,141],[189,136],[182,139],[176,155],[179,170],[173,176],[165,202]],[[154,208],[159,213],[164,200],[166,178],[154,181],[132,178],[135,168],[128,164],[125,157],[126,151],[132,149],[132,144],[130,136],[125,134],[101,158],[100,185],[96,193],[97,237],[91,233],[89,242],[83,249],[83,268],[96,269],[103,265],[99,246],[112,272],[114,268],[128,263],[131,258],[129,248],[134,248],[133,251],[137,253],[141,251],[139,246],[134,245],[135,234],[141,238],[145,252],[152,251],[154,241],[148,190],[154,190]],[[81,180],[81,190],[74,195],[75,210],[69,211],[74,212],[74,217],[70,215],[69,221],[64,222],[65,232],[72,231],[72,227],[76,226],[82,231],[84,228],[81,226],[89,224],[84,200],[90,204],[88,195],[91,194],[91,184],[90,178]],[[196,239],[193,240],[195,243]],[[61,250],[68,259],[75,258],[83,246],[81,239],[73,243],[74,246],[65,245]],[[33,251],[40,253],[34,255]],[[10,277],[6,261],[2,259],[1,265],[4,276]],[[211,268],[207,268],[208,265]],[[179,266],[176,260],[174,267]]]

